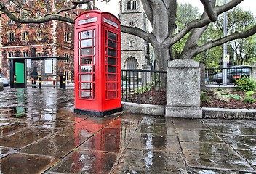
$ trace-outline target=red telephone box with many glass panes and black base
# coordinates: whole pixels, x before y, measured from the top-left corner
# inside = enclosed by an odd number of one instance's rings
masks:
[[[121,111],[121,28],[111,13],[75,20],[75,112],[103,117]]]

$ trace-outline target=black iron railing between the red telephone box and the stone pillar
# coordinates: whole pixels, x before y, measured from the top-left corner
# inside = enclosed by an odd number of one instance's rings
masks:
[[[142,104],[166,104],[167,72],[121,70],[121,100]]]

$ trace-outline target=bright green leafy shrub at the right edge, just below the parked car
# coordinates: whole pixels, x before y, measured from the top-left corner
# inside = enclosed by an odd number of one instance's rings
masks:
[[[243,77],[239,80],[236,80],[236,90],[237,91],[255,91],[256,83],[254,80],[249,77]]]

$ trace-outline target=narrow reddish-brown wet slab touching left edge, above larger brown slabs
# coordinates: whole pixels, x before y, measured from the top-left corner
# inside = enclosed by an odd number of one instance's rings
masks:
[[[14,124],[1,126],[0,136],[6,136],[22,128],[26,128],[27,126],[28,126],[28,123],[14,123]]]

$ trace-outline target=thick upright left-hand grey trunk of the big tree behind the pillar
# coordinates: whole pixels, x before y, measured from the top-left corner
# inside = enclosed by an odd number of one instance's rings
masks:
[[[145,14],[152,25],[150,43],[156,54],[159,70],[167,70],[167,62],[171,60],[170,45],[164,44],[172,36],[176,25],[176,0],[142,0]]]

